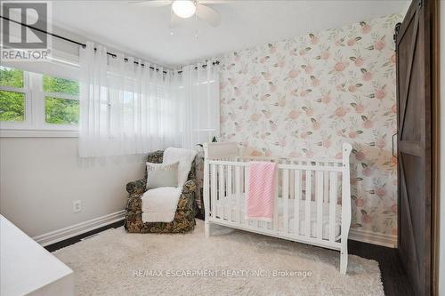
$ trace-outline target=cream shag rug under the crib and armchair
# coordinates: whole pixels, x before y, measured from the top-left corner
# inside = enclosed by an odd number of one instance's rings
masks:
[[[53,252],[75,272],[77,295],[384,295],[375,260],[229,228],[204,236],[109,229]],[[213,226],[213,228],[217,228]]]

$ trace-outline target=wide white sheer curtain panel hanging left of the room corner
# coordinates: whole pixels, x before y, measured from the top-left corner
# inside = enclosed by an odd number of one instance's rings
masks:
[[[173,74],[136,61],[110,57],[99,44],[80,50],[80,156],[142,154],[182,144]]]

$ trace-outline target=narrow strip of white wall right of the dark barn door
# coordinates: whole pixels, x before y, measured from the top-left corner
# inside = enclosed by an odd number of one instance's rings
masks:
[[[439,226],[439,295],[445,295],[445,3],[440,1],[441,50],[441,165],[440,165],[440,226]]]

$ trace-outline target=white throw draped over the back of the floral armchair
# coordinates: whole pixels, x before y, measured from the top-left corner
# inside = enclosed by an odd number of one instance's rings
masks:
[[[178,186],[182,187],[187,181],[191,164],[195,159],[197,152],[183,148],[166,148],[164,152],[163,164],[174,164],[179,162],[178,167]]]

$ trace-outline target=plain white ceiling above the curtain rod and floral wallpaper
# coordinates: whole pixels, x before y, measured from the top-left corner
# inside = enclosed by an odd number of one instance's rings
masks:
[[[190,18],[182,20],[171,35],[169,6],[54,1],[53,23],[85,39],[174,67],[255,44],[400,13],[406,5],[407,0],[231,1],[209,5],[220,12],[220,27]]]

